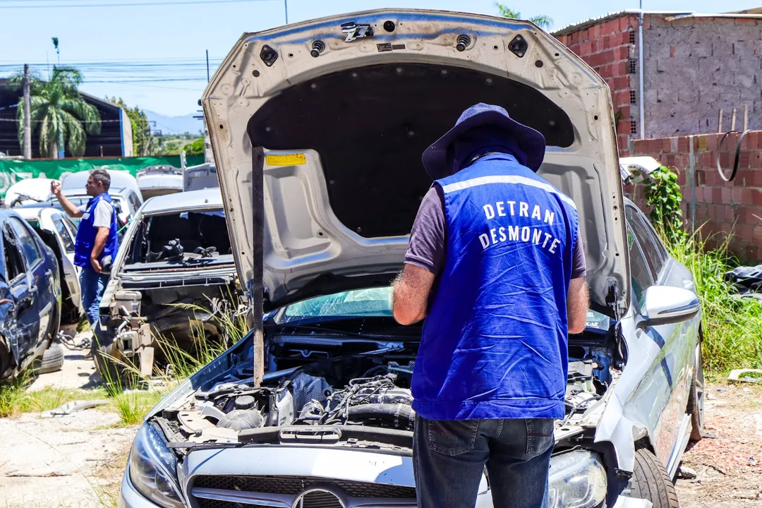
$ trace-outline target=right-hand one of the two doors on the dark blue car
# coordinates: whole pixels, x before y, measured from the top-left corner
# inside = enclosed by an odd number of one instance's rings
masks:
[[[53,318],[54,307],[58,304],[55,295],[56,281],[53,280],[56,260],[50,254],[46,256],[42,240],[23,219],[11,216],[8,218],[8,224],[21,243],[21,253],[27,267],[30,305],[39,320],[37,334],[33,338],[36,344],[39,344],[50,329],[50,319]]]

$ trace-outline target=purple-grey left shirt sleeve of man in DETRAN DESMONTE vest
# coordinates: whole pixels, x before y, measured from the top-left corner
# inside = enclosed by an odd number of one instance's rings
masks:
[[[405,263],[439,275],[444,264],[444,200],[441,187],[428,190],[410,232]]]

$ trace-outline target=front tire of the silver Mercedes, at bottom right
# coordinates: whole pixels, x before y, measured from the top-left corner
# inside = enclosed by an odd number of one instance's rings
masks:
[[[635,451],[635,471],[629,485],[629,497],[645,499],[653,508],[680,508],[677,491],[667,470],[650,450]]]

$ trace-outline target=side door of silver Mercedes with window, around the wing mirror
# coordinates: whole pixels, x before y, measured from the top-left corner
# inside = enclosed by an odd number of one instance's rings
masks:
[[[635,206],[626,206],[627,234],[632,273],[632,302],[642,315],[645,291],[650,286],[679,286],[693,289],[687,268],[668,256],[658,235]],[[656,456],[667,467],[675,453],[682,451],[684,414],[690,389],[693,355],[700,316],[674,324],[639,328],[659,347],[639,391],[642,414],[648,415],[648,427]]]

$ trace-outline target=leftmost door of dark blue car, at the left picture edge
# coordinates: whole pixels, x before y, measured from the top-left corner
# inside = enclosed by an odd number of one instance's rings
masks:
[[[40,320],[34,309],[34,299],[30,292],[30,278],[27,276],[21,241],[8,222],[2,223],[2,248],[5,257],[5,280],[11,289],[13,308],[5,327],[11,340],[11,351],[21,365],[34,352],[39,335]]]

